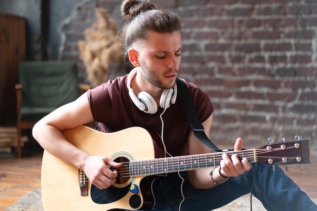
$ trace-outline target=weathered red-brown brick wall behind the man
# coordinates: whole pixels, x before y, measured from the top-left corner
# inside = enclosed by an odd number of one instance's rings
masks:
[[[310,139],[317,149],[317,2],[315,0],[160,0],[184,20],[180,77],[215,107],[211,139],[247,147],[267,138]],[[94,7],[121,23],[121,1],[90,1],[64,25],[63,59],[94,21]],[[85,71],[82,67],[82,77]]]

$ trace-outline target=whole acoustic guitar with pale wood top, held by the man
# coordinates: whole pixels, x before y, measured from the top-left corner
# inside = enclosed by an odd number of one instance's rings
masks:
[[[66,139],[83,151],[108,156],[122,166],[116,182],[100,190],[82,170],[56,158],[46,150],[42,163],[42,200],[45,211],[135,210],[155,205],[152,182],[168,173],[219,166],[222,154],[238,154],[250,162],[267,164],[311,163],[308,140],[268,144],[258,149],[166,157],[156,133],[132,127],[115,133],[101,133],[86,126],[66,130]]]

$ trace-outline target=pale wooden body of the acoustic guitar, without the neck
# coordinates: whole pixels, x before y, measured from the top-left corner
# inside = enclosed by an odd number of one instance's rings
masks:
[[[162,152],[155,152],[152,136],[143,128],[133,127],[115,133],[101,133],[81,125],[63,133],[71,144],[83,151],[91,155],[107,156],[112,160],[118,157],[125,157],[129,160],[153,159],[155,158],[155,153],[160,154],[157,156],[164,156]],[[157,145],[157,143],[154,144]],[[157,149],[160,148],[162,148],[161,144]],[[145,185],[142,185],[141,181],[144,177],[131,178],[127,184],[118,185],[119,187],[111,186],[113,190],[111,188],[108,188],[109,190],[99,190],[94,186],[92,188],[91,183],[88,182],[88,195],[82,196],[80,185],[78,184],[78,168],[44,151],[42,162],[42,200],[44,210],[133,210],[142,206],[151,208],[154,205],[154,197],[151,186],[148,186],[148,184],[151,184],[155,177],[147,177],[142,182]],[[138,193],[129,191],[131,184],[139,187]],[[126,186],[120,187],[124,185]],[[148,188],[148,190],[142,190],[142,187]],[[95,196],[97,203],[92,200],[91,190],[98,192]],[[113,191],[113,193],[108,191]],[[147,194],[143,196],[142,192]],[[110,202],[104,203],[104,196],[111,196],[117,193],[121,194],[121,196],[118,196],[120,200],[107,197]],[[100,197],[101,199],[99,199]],[[136,201],[136,204],[133,201]],[[131,207],[131,205],[134,207]]]

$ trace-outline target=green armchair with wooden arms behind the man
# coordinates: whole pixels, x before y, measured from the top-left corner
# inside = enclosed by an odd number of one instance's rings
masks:
[[[22,156],[22,130],[74,101],[89,86],[80,85],[74,61],[23,61],[19,64],[17,91],[17,154]],[[81,92],[82,91],[82,92]]]

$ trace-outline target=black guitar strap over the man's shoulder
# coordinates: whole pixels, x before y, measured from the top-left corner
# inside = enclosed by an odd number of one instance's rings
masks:
[[[216,152],[221,152],[222,150],[219,149],[216,145],[214,145],[206,136],[204,132],[204,126],[199,121],[191,94],[189,93],[186,83],[179,78],[177,78],[176,83],[177,83],[177,95],[182,104],[186,118],[191,126],[191,129],[194,135],[196,136],[197,139],[199,139],[203,144],[205,144],[210,149]]]

